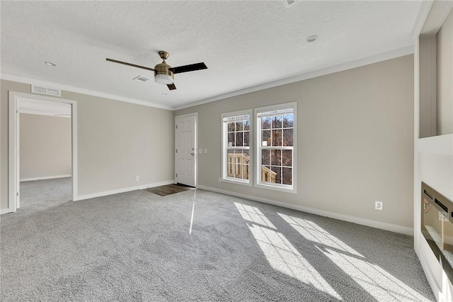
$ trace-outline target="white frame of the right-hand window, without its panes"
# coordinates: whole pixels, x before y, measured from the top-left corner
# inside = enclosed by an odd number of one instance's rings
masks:
[[[261,181],[261,121],[258,118],[259,113],[266,111],[278,111],[283,109],[293,109],[294,124],[292,132],[292,184],[270,184],[268,182]],[[285,104],[277,104],[272,106],[265,106],[254,109],[254,121],[255,121],[255,132],[256,132],[256,169],[255,169],[255,186],[262,189],[270,189],[275,191],[283,191],[288,193],[297,193],[297,101]]]

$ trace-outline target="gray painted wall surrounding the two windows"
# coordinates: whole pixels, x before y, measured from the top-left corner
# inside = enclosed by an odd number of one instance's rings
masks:
[[[413,55],[176,111],[198,113],[198,183],[413,228]],[[222,113],[297,101],[297,194],[219,183]],[[384,210],[374,210],[383,201]]]

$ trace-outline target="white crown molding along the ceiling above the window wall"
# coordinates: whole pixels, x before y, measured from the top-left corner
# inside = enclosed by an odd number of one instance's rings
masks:
[[[353,69],[353,68],[357,68],[357,67],[361,67],[361,66],[365,66],[365,65],[370,65],[370,64],[373,64],[373,63],[377,63],[377,62],[391,60],[391,59],[394,59],[396,57],[403,57],[405,55],[413,55],[413,52],[414,52],[413,45],[408,45],[406,47],[401,47],[401,48],[398,48],[396,50],[391,50],[389,52],[383,52],[383,53],[381,53],[379,55],[373,55],[372,57],[364,57],[362,59],[358,59],[358,60],[354,60],[354,61],[350,61],[350,62],[345,62],[343,64],[333,65],[331,67],[318,69],[318,70],[314,70],[314,71],[311,71],[311,72],[306,72],[304,74],[299,74],[299,75],[294,76],[294,77],[288,77],[286,79],[279,79],[277,81],[268,82],[268,83],[261,84],[261,85],[258,85],[258,86],[252,86],[252,87],[248,87],[246,89],[241,89],[241,90],[229,92],[228,94],[221,94],[219,96],[214,96],[214,97],[209,98],[209,99],[204,99],[204,100],[201,100],[201,101],[195,101],[195,102],[190,103],[190,104],[185,104],[185,105],[182,105],[182,106],[176,106],[175,110],[184,109],[184,108],[190,108],[190,107],[197,106],[197,105],[202,105],[202,104],[207,104],[207,103],[210,103],[212,101],[219,101],[219,100],[222,100],[222,99],[231,98],[233,96],[240,96],[241,94],[249,94],[251,92],[260,91],[260,90],[264,90],[264,89],[268,89],[268,88],[273,88],[273,87],[276,87],[276,86],[282,86],[282,85],[285,85],[285,84],[291,84],[291,83],[294,83],[294,82],[300,82],[300,81],[303,81],[305,79],[312,79],[314,77],[321,77],[321,76],[326,75],[326,74],[333,74],[335,72],[343,72],[343,71],[348,70],[348,69]]]

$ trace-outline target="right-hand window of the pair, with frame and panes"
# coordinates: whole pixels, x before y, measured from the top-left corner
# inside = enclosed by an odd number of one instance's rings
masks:
[[[295,193],[296,106],[256,109],[256,186]]]

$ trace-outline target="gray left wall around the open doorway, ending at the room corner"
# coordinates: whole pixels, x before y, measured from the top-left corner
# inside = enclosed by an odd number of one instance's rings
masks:
[[[8,208],[8,91],[30,93],[30,84],[1,80],[1,209]],[[69,91],[62,99],[77,101],[79,196],[174,179],[173,111]]]

